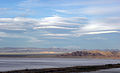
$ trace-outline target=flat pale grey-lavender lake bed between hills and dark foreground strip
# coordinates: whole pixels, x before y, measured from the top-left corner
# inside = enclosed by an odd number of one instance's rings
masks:
[[[83,58],[0,58],[0,71],[116,63],[120,63],[120,60]]]

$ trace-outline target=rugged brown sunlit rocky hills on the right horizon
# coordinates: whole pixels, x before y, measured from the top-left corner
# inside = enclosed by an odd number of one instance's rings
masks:
[[[71,53],[64,53],[59,56],[120,58],[120,51],[83,50],[83,51],[76,51]]]

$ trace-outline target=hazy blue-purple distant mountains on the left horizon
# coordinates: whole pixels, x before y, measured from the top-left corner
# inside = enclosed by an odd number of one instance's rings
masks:
[[[66,48],[15,48],[15,47],[5,47],[0,48],[0,53],[25,53],[25,52],[73,52],[78,49],[66,49]]]

